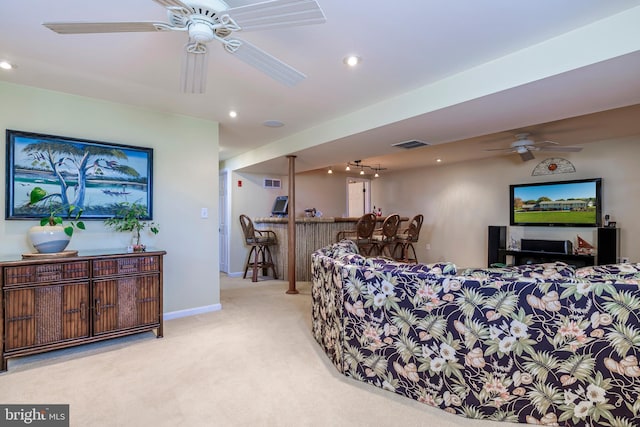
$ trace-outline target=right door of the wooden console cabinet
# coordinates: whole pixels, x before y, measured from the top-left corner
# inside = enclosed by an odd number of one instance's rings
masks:
[[[160,322],[157,274],[96,280],[93,298],[95,335]]]

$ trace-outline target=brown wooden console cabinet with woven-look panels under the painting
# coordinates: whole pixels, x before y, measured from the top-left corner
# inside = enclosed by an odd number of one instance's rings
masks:
[[[0,371],[7,359],[155,329],[165,251],[0,260]]]

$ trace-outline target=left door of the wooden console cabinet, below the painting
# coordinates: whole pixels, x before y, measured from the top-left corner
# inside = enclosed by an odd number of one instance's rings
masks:
[[[89,284],[5,290],[6,350],[89,336]]]

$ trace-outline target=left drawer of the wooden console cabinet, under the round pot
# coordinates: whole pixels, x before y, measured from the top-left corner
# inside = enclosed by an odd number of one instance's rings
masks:
[[[23,265],[4,269],[5,286],[88,278],[88,261]]]

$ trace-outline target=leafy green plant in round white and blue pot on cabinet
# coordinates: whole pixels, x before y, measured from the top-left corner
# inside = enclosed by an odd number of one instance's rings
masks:
[[[55,202],[54,199],[59,194],[48,194],[41,187],[35,187],[29,193],[29,205],[35,206],[39,203],[45,204],[49,210],[49,216],[40,220],[39,226],[33,226],[29,229],[28,237],[34,248],[40,253],[56,253],[65,250],[73,230],[78,228],[84,230],[84,222],[79,221],[82,215],[82,209],[75,205],[64,206],[62,203]],[[67,223],[62,218],[65,214]]]

